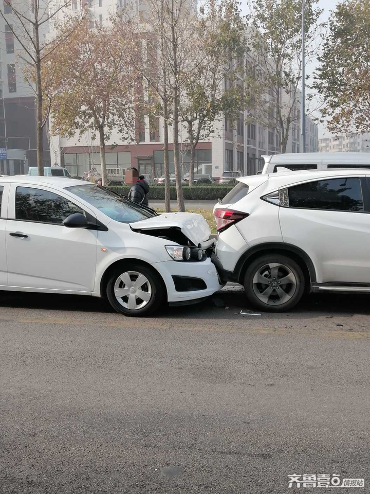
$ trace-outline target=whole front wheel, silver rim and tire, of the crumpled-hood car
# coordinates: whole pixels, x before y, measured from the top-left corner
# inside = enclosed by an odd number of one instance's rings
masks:
[[[107,288],[110,305],[132,317],[152,314],[163,301],[162,280],[152,269],[140,264],[121,267],[110,277]]]

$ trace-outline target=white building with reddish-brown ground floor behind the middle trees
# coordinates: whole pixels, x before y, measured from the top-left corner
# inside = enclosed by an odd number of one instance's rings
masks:
[[[72,8],[78,8],[78,2],[72,2]],[[190,1],[190,0],[189,0]],[[118,6],[113,0],[89,0],[88,9],[91,19],[95,22],[109,22],[109,13],[114,12],[124,3],[119,1]],[[142,3],[138,1],[136,9],[140,9]],[[52,35],[51,26],[51,35]],[[249,57],[245,58],[245,63],[250,63]],[[272,109],[273,111],[273,109]],[[299,109],[297,109],[299,112]],[[162,121],[158,119],[155,129],[149,118],[144,115],[136,116],[136,125],[133,129],[135,144],[127,144],[122,141],[121,136],[114,132],[110,140],[106,143],[106,163],[108,166],[120,166],[128,168],[137,167],[143,174],[151,174],[160,177],[163,174],[163,130]],[[291,136],[288,143],[287,152],[300,151],[300,125],[299,115],[297,123],[291,129]],[[209,173],[213,177],[219,177],[227,170],[241,170],[244,174],[255,174],[262,168],[261,157],[265,154],[276,154],[281,152],[281,138],[279,129],[276,127],[265,127],[259,123],[249,123],[249,112],[241,112],[235,125],[231,125],[227,119],[214,122],[214,133],[209,138],[197,145],[195,155],[196,173]],[[307,139],[308,151],[318,151],[317,149],[317,127],[307,118],[306,127],[309,129]],[[170,141],[170,172],[174,172],[173,160],[173,139],[169,128]],[[311,131],[312,129],[312,131]],[[312,134],[312,138],[311,138]],[[308,136],[307,136],[308,137]],[[180,129],[179,141],[186,140],[186,129]],[[109,145],[115,144],[114,149]],[[91,140],[89,135],[76,134],[72,138],[65,139],[60,136],[51,138],[50,147],[53,153],[55,150],[55,160],[61,166],[65,166],[71,175],[82,177],[91,165],[99,168],[100,154],[98,140]],[[188,172],[190,162],[190,151],[186,145],[182,146],[180,157],[183,163],[183,174]],[[54,161],[54,157],[52,158]]]

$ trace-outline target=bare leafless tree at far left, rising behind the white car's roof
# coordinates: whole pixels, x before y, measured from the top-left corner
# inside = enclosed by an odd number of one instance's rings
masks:
[[[48,120],[51,107],[50,80],[43,77],[43,65],[50,54],[50,40],[45,37],[48,25],[60,11],[67,8],[71,0],[61,1],[57,6],[53,0],[31,0],[31,8],[28,2],[20,0],[4,0],[10,12],[5,14],[0,9],[0,15],[4,19],[8,29],[24,50],[22,59],[25,62],[24,74],[36,97],[36,153],[39,175],[44,174],[43,166],[43,129]],[[9,15],[12,14],[11,20]],[[78,27],[78,23],[66,26],[66,30],[59,33],[54,40],[54,49],[59,42],[66,39],[69,34]],[[50,74],[49,74],[50,77]]]

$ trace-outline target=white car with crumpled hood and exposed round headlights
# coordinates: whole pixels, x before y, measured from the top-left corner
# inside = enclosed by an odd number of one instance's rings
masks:
[[[0,192],[1,290],[107,297],[117,312],[143,316],[220,288],[200,215],[158,215],[71,179],[3,177]]]

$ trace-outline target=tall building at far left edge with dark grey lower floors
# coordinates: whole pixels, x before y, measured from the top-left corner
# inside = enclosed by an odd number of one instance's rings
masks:
[[[26,0],[18,5],[24,9],[25,16],[32,15],[31,2]],[[0,8],[17,32],[19,21],[11,5],[2,2]],[[42,37],[48,29],[46,23]],[[29,166],[37,165],[35,94],[23,76],[24,50],[4,19],[0,21],[0,31],[4,33],[0,34],[0,173],[27,173]],[[44,165],[50,165],[46,133]]]

